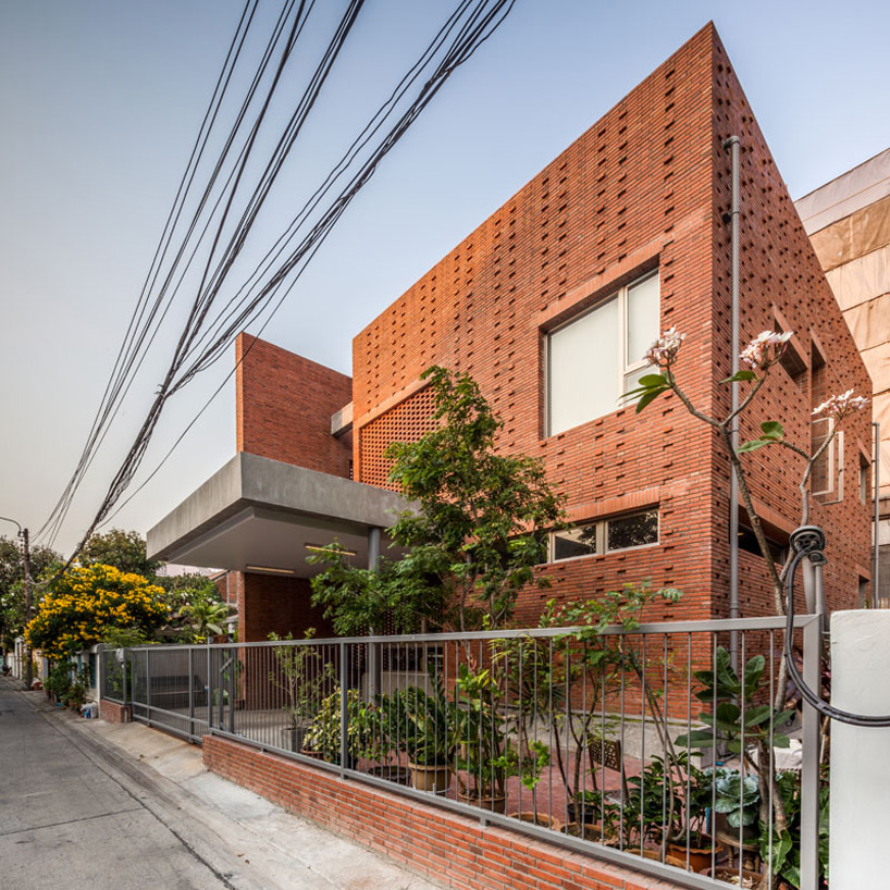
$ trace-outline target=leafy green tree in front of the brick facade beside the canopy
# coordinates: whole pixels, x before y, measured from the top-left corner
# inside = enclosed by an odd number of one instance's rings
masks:
[[[313,579],[313,603],[338,630],[387,609],[403,623],[411,613],[438,613],[444,627],[503,627],[523,586],[546,586],[534,567],[546,559],[546,532],[563,521],[563,498],[541,461],[496,452],[503,421],[471,378],[435,366],[423,378],[434,429],[386,452],[391,481],[417,504],[390,530],[407,555],[382,560],[376,577],[335,548],[318,557],[326,569]]]

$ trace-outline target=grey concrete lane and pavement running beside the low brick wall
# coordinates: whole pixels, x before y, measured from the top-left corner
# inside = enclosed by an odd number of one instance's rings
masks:
[[[5,704],[4,704],[5,703]],[[9,703],[12,703],[10,706]],[[7,714],[15,714],[20,732],[4,732]],[[86,881],[101,888],[230,888],[231,890],[435,890],[436,885],[416,877],[361,846],[341,839],[311,823],[271,804],[239,786],[208,772],[201,750],[140,724],[112,725],[85,720],[49,705],[42,693],[13,692],[13,682],[0,680],[0,757],[4,768],[17,758],[22,764],[46,767],[52,759],[61,769],[28,770],[27,787],[0,791],[0,858],[4,862],[2,885],[15,890],[74,886],[69,879],[87,878],[89,868],[70,868],[63,882],[48,873],[39,831],[50,829],[58,840],[81,816],[96,808],[95,824],[72,839],[85,850],[94,865]],[[11,750],[14,745],[15,750]],[[8,750],[10,749],[10,750]],[[48,775],[46,789],[35,787]],[[78,816],[69,812],[72,801],[52,816],[53,796],[59,798],[62,777],[75,782],[74,802],[83,799]],[[15,783],[13,783],[14,786]],[[36,796],[35,796],[36,795]],[[41,796],[42,795],[42,796]],[[49,796],[47,796],[49,795]],[[10,821],[8,814],[32,812],[34,800],[48,807],[35,819]],[[98,799],[98,800],[97,800]],[[58,807],[57,807],[58,808]],[[150,816],[149,816],[150,814]],[[151,818],[153,817],[153,818]],[[102,819],[106,819],[103,823]],[[135,819],[135,823],[134,823]],[[123,821],[122,821],[123,820]],[[119,829],[134,823],[136,836],[127,839]],[[149,830],[150,829],[150,830]],[[35,833],[37,832],[37,833]],[[152,832],[158,833],[153,837]],[[134,856],[138,844],[150,838],[150,850]],[[45,839],[46,840],[46,839]],[[7,865],[25,852],[32,868],[15,872],[18,882],[7,883]],[[54,848],[53,848],[54,849]],[[71,850],[72,855],[76,855]],[[157,857],[172,864],[159,874]],[[134,861],[135,860],[135,861]],[[144,863],[146,879],[139,877]],[[128,874],[126,874],[128,872]],[[33,883],[24,882],[33,873]],[[102,882],[101,874],[112,880]],[[175,875],[175,877],[174,877]]]

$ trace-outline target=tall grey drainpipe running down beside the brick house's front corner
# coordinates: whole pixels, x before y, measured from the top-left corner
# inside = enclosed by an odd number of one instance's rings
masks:
[[[730,231],[732,235],[732,257],[730,262],[730,373],[739,371],[739,137],[730,136],[724,141],[724,150],[730,151],[732,166],[732,202],[729,211]],[[739,384],[732,383],[730,388],[730,407],[732,411],[739,408]],[[732,447],[739,447],[739,418],[733,418],[730,428]],[[729,617],[730,620],[739,617],[739,480],[736,470],[729,471]],[[729,642],[732,666],[739,665],[739,634],[732,631]]]

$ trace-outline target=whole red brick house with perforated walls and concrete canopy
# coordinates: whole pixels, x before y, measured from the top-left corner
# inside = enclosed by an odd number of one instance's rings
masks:
[[[705,410],[728,411],[719,383],[730,369],[722,144],[733,134],[741,342],[795,332],[742,435],[778,419],[793,441],[817,441],[812,408],[872,384],[708,25],[361,331],[351,380],[242,335],[239,454],[149,532],[151,557],[242,572],[242,641],[308,625],[324,632],[308,606],[306,556],[337,535],[357,560],[373,559],[379,530],[406,506],[386,489],[384,450],[430,428],[420,374],[438,363],[479,382],[504,420],[499,447],[540,457],[568,497],[576,532],[554,536],[541,569],[553,586],[520,598],[520,621],[534,621],[545,597],[643,579],[685,592],[665,617],[726,617],[727,458],[677,398],[642,415],[619,399],[646,347],[676,325],[687,334],[682,386]],[[870,578],[870,505],[842,472],[867,459],[868,424],[865,413],[844,424],[816,479],[809,521],[828,535],[835,608],[855,605]],[[800,521],[800,461],[777,447],[746,460],[780,549]],[[742,615],[769,614],[762,557],[749,535],[740,542]]]

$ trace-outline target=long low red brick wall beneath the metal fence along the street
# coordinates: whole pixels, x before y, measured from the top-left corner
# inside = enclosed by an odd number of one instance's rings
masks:
[[[472,890],[675,890],[676,885],[213,736],[203,763],[434,881]]]

